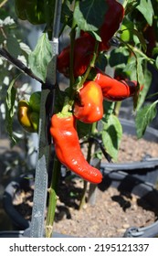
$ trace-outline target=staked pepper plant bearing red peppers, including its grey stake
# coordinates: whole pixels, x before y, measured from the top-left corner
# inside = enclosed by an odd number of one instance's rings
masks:
[[[157,1],[15,0],[14,5],[20,20],[43,28],[27,66],[11,56],[3,34],[0,54],[41,83],[37,108],[34,101],[20,101],[18,120],[27,132],[37,132],[39,137],[30,236],[41,237],[46,228],[46,236],[51,237],[61,165],[83,178],[84,188],[86,182],[100,183],[100,167],[91,165],[91,147],[99,145],[101,155],[94,155],[100,161],[102,155],[108,161],[117,160],[122,135],[121,123],[114,114],[118,102],[132,98],[139,137],[155,116],[157,101],[145,107],[143,103],[152,78],[148,63],[158,68]],[[153,44],[147,37],[150,28]],[[68,44],[60,49],[58,42],[63,35],[68,37]],[[113,76],[107,71],[109,67]],[[62,90],[58,74],[68,79],[68,86]],[[13,109],[14,83],[9,97]],[[37,113],[34,119],[32,112]],[[87,159],[79,140],[88,143]],[[52,147],[53,170],[49,170]],[[44,228],[47,176],[52,179]]]

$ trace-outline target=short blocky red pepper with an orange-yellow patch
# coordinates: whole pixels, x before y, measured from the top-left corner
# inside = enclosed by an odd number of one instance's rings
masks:
[[[73,113],[79,121],[84,123],[97,122],[103,116],[102,101],[100,85],[94,81],[86,81],[79,91]]]

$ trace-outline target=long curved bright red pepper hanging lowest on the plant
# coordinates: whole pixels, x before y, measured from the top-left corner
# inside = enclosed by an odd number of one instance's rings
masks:
[[[75,128],[75,117],[69,113],[54,114],[51,118],[50,133],[53,137],[58,160],[69,170],[91,183],[100,183],[100,170],[91,166],[81,152],[79,137]]]

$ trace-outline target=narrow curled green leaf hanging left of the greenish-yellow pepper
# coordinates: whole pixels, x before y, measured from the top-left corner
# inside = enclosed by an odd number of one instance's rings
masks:
[[[15,79],[16,80],[16,79]],[[5,125],[6,131],[13,144],[16,144],[16,138],[13,135],[13,117],[15,111],[15,101],[16,101],[16,88],[14,87],[15,80],[10,83],[5,100]]]

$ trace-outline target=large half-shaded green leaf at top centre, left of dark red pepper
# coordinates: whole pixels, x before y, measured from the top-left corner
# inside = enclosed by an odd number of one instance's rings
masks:
[[[81,30],[97,31],[108,10],[104,0],[79,1],[75,7],[74,20]]]

